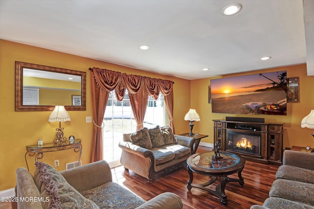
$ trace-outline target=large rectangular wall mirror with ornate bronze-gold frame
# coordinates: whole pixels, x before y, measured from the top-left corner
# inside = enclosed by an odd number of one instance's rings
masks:
[[[86,72],[15,61],[15,111],[86,110]]]

